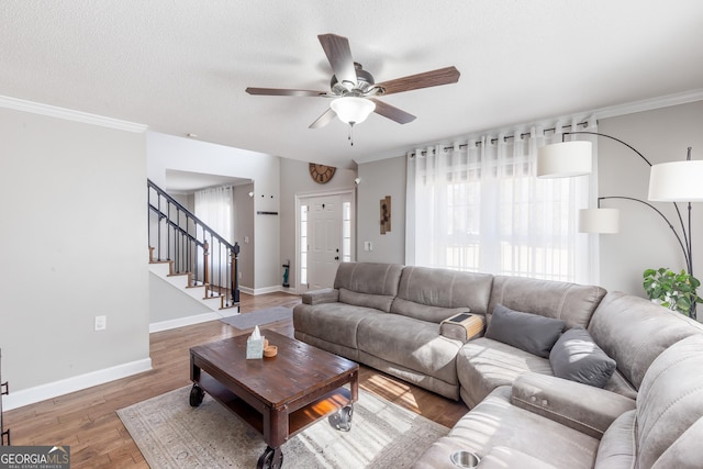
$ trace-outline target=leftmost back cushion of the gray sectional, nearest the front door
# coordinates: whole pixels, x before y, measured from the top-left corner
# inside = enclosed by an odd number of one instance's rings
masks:
[[[403,266],[400,264],[342,263],[337,268],[334,288],[339,302],[375,308],[389,312],[398,294]]]

